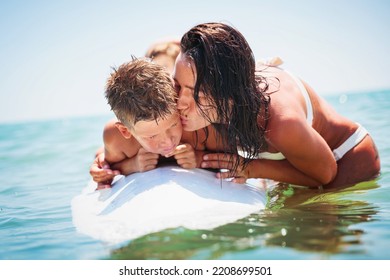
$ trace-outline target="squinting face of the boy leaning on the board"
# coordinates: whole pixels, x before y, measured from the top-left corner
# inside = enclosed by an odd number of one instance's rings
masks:
[[[130,132],[145,150],[165,156],[180,144],[183,130],[179,114],[175,113],[157,122],[139,121]]]

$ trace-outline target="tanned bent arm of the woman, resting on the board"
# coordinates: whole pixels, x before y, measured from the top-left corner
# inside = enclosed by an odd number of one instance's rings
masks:
[[[283,153],[285,160],[254,159],[245,169],[219,173],[221,178],[234,177],[243,183],[247,178],[268,178],[280,182],[320,186],[333,180],[337,164],[325,140],[307,123],[284,119],[283,129],[276,126],[267,133],[273,148]],[[211,153],[203,157],[202,167],[232,170],[238,156]]]

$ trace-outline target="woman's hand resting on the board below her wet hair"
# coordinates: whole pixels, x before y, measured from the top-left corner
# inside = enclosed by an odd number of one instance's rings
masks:
[[[232,154],[225,154],[225,153],[206,154],[203,156],[201,167],[225,169],[227,171],[221,170],[221,172],[217,173],[217,177],[221,179],[233,178],[232,182],[238,184],[244,184],[246,182],[246,179],[248,179],[249,177],[248,167],[244,169],[241,158],[239,156],[232,155]],[[237,169],[233,170],[235,167],[237,167]]]

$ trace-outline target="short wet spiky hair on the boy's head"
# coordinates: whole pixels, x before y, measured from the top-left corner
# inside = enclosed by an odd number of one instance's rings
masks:
[[[119,121],[132,128],[138,121],[156,122],[177,113],[176,92],[169,73],[146,58],[114,68],[105,95]]]

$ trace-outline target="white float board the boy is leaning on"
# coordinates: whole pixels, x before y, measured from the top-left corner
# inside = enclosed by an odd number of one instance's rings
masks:
[[[72,199],[73,223],[112,244],[168,228],[213,229],[265,208],[267,184],[248,181],[221,182],[212,171],[171,165],[118,176],[110,189],[96,191],[91,181]]]

